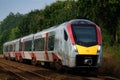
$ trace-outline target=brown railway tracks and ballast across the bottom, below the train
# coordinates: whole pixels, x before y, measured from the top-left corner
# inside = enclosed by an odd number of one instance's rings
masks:
[[[81,75],[71,74],[66,72],[64,74],[57,73],[53,70],[45,69],[40,66],[32,66],[14,61],[0,59],[0,66],[6,71],[15,75],[18,80],[119,80],[109,76],[101,75]]]

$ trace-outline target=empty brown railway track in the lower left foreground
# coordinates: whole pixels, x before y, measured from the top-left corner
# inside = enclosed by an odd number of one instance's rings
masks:
[[[0,61],[1,66],[10,73],[16,75],[22,80],[53,80],[42,74],[38,74],[32,71],[25,70],[24,68],[15,67],[15,65],[6,64]]]

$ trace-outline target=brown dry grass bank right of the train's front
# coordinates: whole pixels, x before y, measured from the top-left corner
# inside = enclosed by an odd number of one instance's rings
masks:
[[[111,54],[104,55],[100,73],[120,78],[120,60]]]

